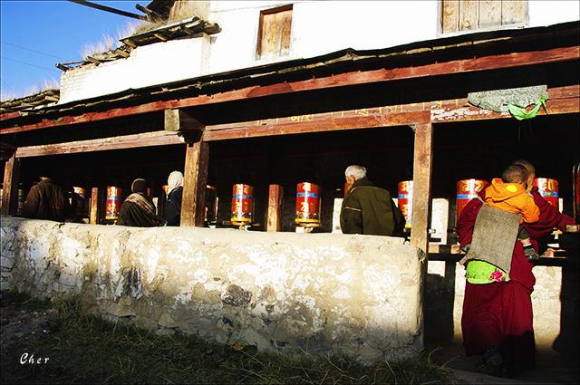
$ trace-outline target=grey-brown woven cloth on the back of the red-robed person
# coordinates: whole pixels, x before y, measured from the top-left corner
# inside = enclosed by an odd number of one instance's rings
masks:
[[[484,204],[475,220],[469,252],[459,263],[478,259],[509,273],[520,217]]]

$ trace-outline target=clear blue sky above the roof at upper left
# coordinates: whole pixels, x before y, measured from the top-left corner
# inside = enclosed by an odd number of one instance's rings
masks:
[[[135,4],[149,0],[92,1],[140,14]],[[0,90],[2,100],[40,91],[58,82],[55,63],[82,59],[87,44],[103,36],[115,43],[127,24],[138,20],[63,0],[0,0]]]

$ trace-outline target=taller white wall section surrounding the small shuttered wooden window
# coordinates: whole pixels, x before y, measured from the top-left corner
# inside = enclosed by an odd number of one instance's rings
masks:
[[[391,47],[437,34],[437,2],[424,1],[219,1],[209,18],[222,32],[211,48],[210,71],[223,72],[272,60],[256,58],[260,12],[293,4],[290,54],[276,61],[306,58],[345,48]],[[412,15],[405,17],[405,15]]]

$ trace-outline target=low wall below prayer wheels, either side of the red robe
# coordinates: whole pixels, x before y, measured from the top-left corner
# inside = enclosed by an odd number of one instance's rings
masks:
[[[455,262],[457,256],[441,259],[447,260],[431,258],[430,273],[426,276],[423,301],[426,346],[446,346],[462,341],[460,321],[463,291],[460,288],[465,280],[462,274],[464,270]],[[536,263],[533,272],[536,275],[535,294],[532,295],[536,348],[551,349],[564,361],[578,362],[579,261],[574,257],[564,260],[542,258]],[[555,314],[555,309],[560,309],[560,313]]]

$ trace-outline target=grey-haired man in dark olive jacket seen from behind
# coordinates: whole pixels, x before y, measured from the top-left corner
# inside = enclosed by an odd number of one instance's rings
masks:
[[[362,166],[349,166],[344,176],[352,187],[341,208],[343,234],[400,235],[405,220],[399,207],[392,202],[391,193],[375,187],[366,178],[366,168]]]

